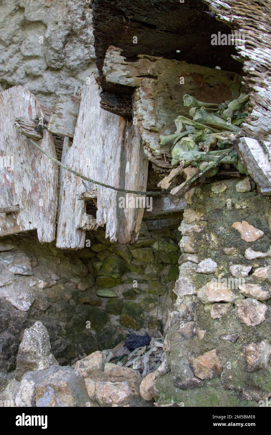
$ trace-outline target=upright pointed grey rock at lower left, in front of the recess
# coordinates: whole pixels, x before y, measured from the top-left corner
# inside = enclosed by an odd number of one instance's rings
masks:
[[[50,365],[58,365],[50,348],[47,329],[40,321],[25,329],[17,355],[15,378],[21,380],[27,371],[44,370]]]

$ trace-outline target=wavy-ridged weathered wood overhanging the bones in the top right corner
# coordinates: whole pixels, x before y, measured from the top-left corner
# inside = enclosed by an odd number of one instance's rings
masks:
[[[245,44],[235,46],[252,108],[241,125],[243,136],[271,142],[271,0],[203,1],[218,20],[228,23],[235,37],[244,35]]]

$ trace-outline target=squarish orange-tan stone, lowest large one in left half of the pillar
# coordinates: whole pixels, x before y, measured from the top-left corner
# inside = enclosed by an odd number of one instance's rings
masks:
[[[218,358],[217,350],[205,352],[197,358],[190,358],[194,375],[200,379],[212,379],[221,375],[223,367]]]

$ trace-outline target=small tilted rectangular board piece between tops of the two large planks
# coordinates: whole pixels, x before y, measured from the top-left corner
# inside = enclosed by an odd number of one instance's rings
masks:
[[[80,98],[60,94],[51,112],[48,130],[53,134],[73,138]]]

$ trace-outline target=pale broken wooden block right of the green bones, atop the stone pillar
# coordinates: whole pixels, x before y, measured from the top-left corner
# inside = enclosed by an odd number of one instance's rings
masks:
[[[271,154],[271,143],[265,142]],[[264,195],[271,195],[271,162],[261,144],[250,137],[241,137],[236,151],[241,162]]]

